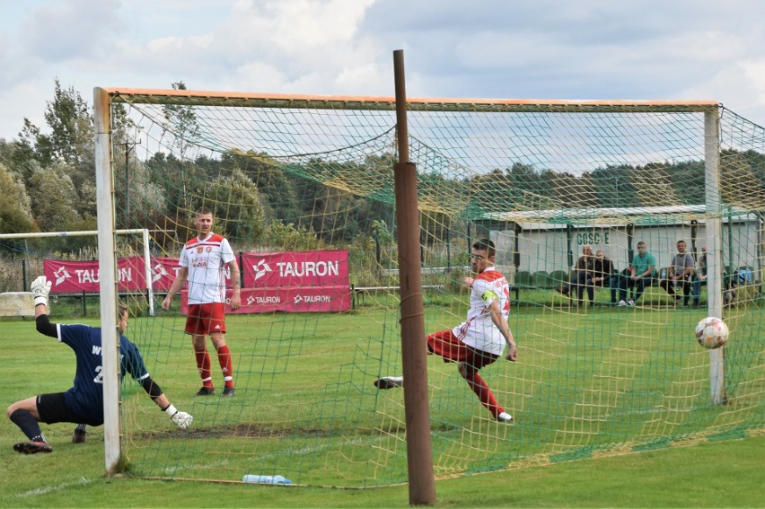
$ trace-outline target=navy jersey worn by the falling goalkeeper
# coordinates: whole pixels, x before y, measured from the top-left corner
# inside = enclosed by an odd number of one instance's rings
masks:
[[[101,329],[83,324],[58,324],[58,340],[75,350],[77,371],[75,386],[64,393],[66,406],[77,417],[77,422],[90,426],[103,424],[103,362],[101,360]],[[138,347],[119,335],[119,381],[125,373],[144,380],[144,359]]]

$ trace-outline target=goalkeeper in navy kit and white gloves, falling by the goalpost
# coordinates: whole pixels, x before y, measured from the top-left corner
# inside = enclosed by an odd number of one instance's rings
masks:
[[[75,386],[66,392],[40,394],[16,401],[8,407],[8,417],[27,435],[28,442],[16,443],[13,449],[22,454],[52,452],[53,448],[40,431],[40,422],[78,424],[74,442],[84,442],[84,427],[103,424],[103,376],[101,362],[101,328],[83,324],[64,325],[48,320],[48,292],[50,282],[40,276],[31,284],[37,330],[41,334],[65,343],[75,350],[77,368]],[[193,417],[180,412],[170,404],[159,385],[146,371],[138,347],[122,333],[128,328],[128,306],[119,305],[120,380],[125,373],[139,382],[154,403],[163,410],[180,429],[186,429]],[[78,432],[80,432],[78,434]]]

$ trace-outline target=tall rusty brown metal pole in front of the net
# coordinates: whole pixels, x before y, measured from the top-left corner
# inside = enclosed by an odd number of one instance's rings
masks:
[[[409,162],[404,52],[393,52],[399,162],[393,168],[399,241],[401,362],[407,420],[409,504],[434,505],[435,480],[427,399],[425,306],[419,259],[417,167]]]

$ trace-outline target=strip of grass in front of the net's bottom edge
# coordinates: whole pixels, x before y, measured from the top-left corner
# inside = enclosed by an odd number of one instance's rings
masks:
[[[340,490],[103,476],[101,447],[0,452],[3,507],[407,507],[409,487]],[[439,507],[765,507],[765,437],[436,482]]]

